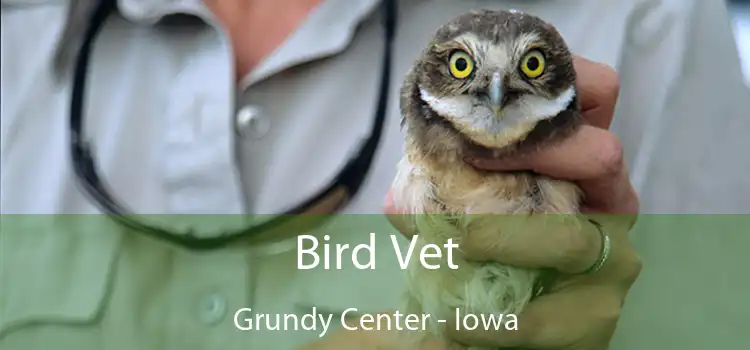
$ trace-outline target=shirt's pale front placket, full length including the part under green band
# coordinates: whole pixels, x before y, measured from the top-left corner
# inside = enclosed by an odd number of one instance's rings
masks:
[[[176,6],[176,4],[171,4]],[[199,8],[189,11],[200,14]],[[140,11],[156,13],[156,9]],[[162,10],[163,13],[168,11]],[[158,24],[157,24],[158,25]],[[160,153],[164,211],[180,215],[169,228],[210,237],[243,226],[242,191],[236,171],[235,85],[228,38],[208,24],[182,46],[166,95]],[[238,338],[236,310],[252,304],[253,271],[242,246],[218,251],[176,249],[163,307],[170,348],[249,349],[252,339]]]

